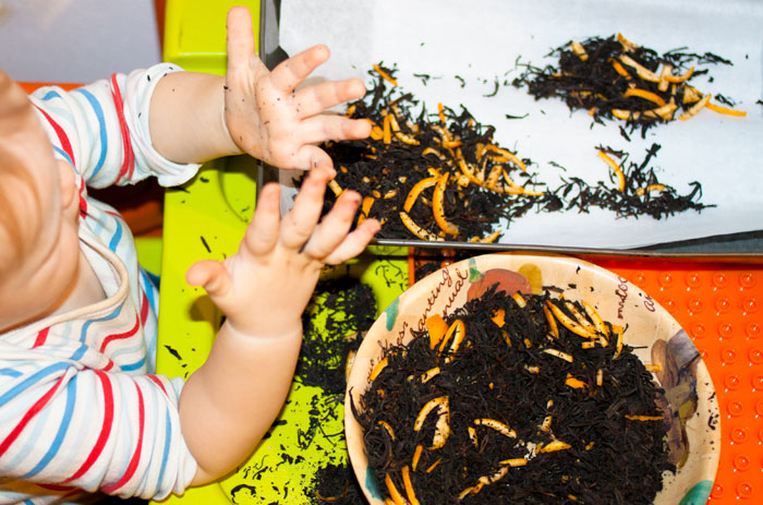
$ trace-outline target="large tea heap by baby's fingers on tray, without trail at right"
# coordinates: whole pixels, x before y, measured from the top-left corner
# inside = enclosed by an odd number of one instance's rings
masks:
[[[493,127],[463,107],[427,113],[397,86],[393,69],[374,67],[374,88],[347,110],[373,122],[371,137],[323,147],[338,170],[334,195],[360,192],[360,218],[380,219],[379,238],[489,242],[501,218],[548,203],[532,161],[496,144]]]

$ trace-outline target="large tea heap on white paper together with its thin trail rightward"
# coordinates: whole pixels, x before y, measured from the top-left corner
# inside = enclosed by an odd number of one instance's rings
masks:
[[[501,226],[510,227],[529,212],[588,213],[600,207],[617,217],[661,219],[706,207],[700,202],[699,182],[691,182],[689,192],[680,194],[658,180],[650,166],[657,144],[642,163],[600,147],[611,173],[618,173],[614,184],[592,185],[564,176],[556,187],[541,182],[536,164],[495,142],[494,127],[480,123],[464,107],[457,112],[438,104],[438,110],[428,113],[397,85],[396,72],[383,63],[374,65],[373,88],[346,112],[370,120],[371,136],[323,145],[337,168],[325,211],[346,189],[358,191],[363,197],[358,223],[379,219],[380,239],[493,242],[507,231]],[[555,172],[558,168],[564,169],[560,164],[548,167]]]

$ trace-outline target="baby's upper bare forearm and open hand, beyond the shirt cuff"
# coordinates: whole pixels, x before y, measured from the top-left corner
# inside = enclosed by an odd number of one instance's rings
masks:
[[[156,85],[150,105],[152,143],[175,163],[249,153],[278,168],[330,166],[315,144],[364,139],[371,125],[322,113],[365,94],[360,80],[323,82],[295,89],[328,59],[315,46],[272,72],[257,58],[252,19],[243,7],[228,14],[228,73],[171,73]]]

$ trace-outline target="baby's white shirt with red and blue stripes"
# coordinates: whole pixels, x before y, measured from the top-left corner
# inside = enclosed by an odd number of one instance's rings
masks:
[[[162,63],[31,97],[56,156],[76,173],[80,243],[107,299],[0,335],[0,504],[80,503],[96,492],[162,498],[196,471],[180,431],[183,382],[155,374],[158,291],[124,220],[87,195],[196,172],[150,144],[154,87],[178,70]]]

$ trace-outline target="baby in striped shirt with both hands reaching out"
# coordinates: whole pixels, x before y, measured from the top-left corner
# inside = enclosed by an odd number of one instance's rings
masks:
[[[320,218],[335,171],[317,144],[371,129],[322,112],[363,84],[296,89],[325,47],[269,72],[245,8],[227,29],[225,77],[162,63],[29,97],[0,73],[0,503],[160,500],[233,470],[282,406],[322,267],[378,231],[366,219],[350,232],[352,191]],[[226,322],[186,382],[156,375],[157,290],[124,221],[87,187],[180,184],[241,153],[310,172],[286,216],[278,185],[264,187],[239,251],[191,267]]]

